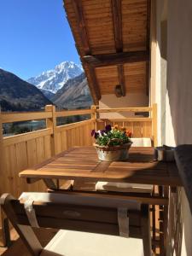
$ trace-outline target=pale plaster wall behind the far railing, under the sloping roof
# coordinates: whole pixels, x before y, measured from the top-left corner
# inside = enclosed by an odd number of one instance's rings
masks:
[[[113,94],[102,95],[99,108],[128,108],[128,107],[148,107],[148,96],[139,93],[127,93],[126,96],[116,97]],[[100,117],[105,119],[123,118],[130,116],[127,113],[101,113]]]

